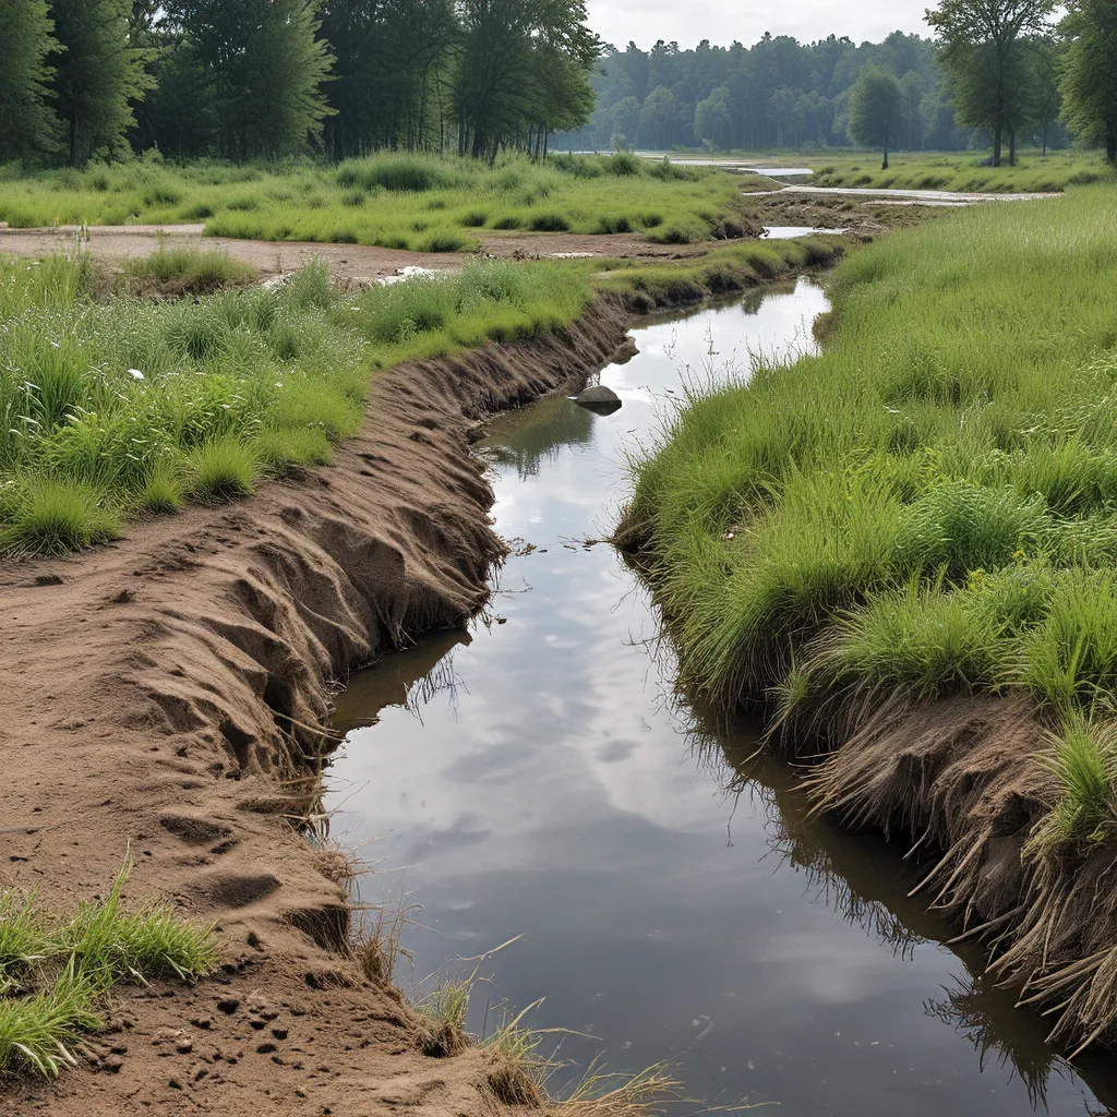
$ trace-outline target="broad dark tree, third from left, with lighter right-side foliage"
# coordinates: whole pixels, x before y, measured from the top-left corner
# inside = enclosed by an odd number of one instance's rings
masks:
[[[333,112],[322,88],[333,56],[317,36],[318,0],[187,0],[175,7],[212,90],[221,154],[276,157],[321,141]]]

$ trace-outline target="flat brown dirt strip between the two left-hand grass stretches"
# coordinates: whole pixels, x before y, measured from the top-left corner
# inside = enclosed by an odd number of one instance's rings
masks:
[[[407,249],[378,248],[370,245],[321,245],[304,241],[236,240],[204,236],[202,225],[172,226],[89,226],[88,239],[79,242],[77,226],[58,229],[0,229],[0,252],[41,257],[69,252],[80,247],[97,259],[121,260],[150,256],[161,242],[219,248],[232,259],[252,265],[261,275],[295,271],[312,259],[328,261],[335,277],[370,280],[399,274],[405,267],[440,270],[460,268],[475,254],[412,252]],[[610,258],[672,259],[700,255],[708,244],[653,245],[638,233],[590,236],[569,232],[494,232],[481,238],[481,251],[489,256],[524,258],[569,258],[602,256]]]

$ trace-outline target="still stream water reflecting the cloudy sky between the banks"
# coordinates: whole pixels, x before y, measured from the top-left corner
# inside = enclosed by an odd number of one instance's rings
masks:
[[[422,905],[414,978],[480,965],[470,1027],[506,1001],[571,1029],[560,1058],[669,1061],[709,1105],[783,1114],[1019,1115],[1102,1109],[1105,1062],[1072,1070],[1042,1022],[907,894],[917,869],[872,836],[809,819],[792,775],[748,760],[672,698],[648,594],[604,544],[626,452],[704,356],[799,352],[825,308],[809,281],[634,331],[600,417],[544,400],[478,452],[517,550],[490,611],[354,678],[332,771],[335,834],[379,858],[366,899]],[[687,373],[686,366],[690,372]],[[409,973],[400,974],[404,984]],[[689,1107],[694,1109],[695,1107]]]

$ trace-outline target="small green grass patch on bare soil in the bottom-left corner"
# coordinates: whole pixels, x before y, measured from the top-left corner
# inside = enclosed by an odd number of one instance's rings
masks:
[[[130,869],[70,917],[44,910],[34,894],[0,892],[0,1073],[56,1078],[75,1065],[76,1047],[101,1027],[98,1009],[120,982],[190,982],[217,968],[209,928],[161,905],[123,908]]]

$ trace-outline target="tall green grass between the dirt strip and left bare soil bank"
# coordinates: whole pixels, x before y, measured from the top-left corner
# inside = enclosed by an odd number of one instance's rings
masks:
[[[135,267],[181,276],[182,259]],[[98,281],[80,257],[0,260],[0,555],[79,550],[326,464],[376,369],[558,330],[591,297],[577,269],[507,261],[357,295],[318,265],[179,302],[97,299]]]

